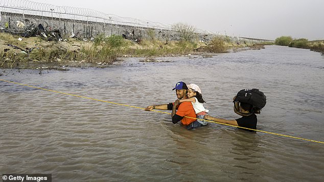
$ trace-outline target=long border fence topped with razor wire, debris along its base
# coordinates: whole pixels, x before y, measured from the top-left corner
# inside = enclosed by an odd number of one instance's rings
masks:
[[[13,34],[32,34],[41,24],[45,31],[58,30],[62,37],[94,38],[99,34],[123,35],[128,39],[147,37],[148,30],[155,30],[158,39],[166,35],[177,40],[170,24],[130,17],[121,17],[99,11],[36,3],[28,0],[0,0],[1,26]],[[195,33],[206,39],[212,32],[196,29]],[[27,36],[25,34],[25,36]],[[203,35],[202,35],[203,34]],[[208,36],[210,35],[210,36]]]

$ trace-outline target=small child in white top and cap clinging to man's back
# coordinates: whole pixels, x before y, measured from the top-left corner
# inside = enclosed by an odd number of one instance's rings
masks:
[[[188,85],[187,97],[188,98],[179,99],[179,103],[191,102],[198,118],[197,121],[202,125],[207,125],[208,122],[202,119],[204,119],[204,116],[209,112],[209,110],[206,110],[203,107],[202,103],[205,101],[202,99],[201,90],[198,87],[198,85],[196,84]]]

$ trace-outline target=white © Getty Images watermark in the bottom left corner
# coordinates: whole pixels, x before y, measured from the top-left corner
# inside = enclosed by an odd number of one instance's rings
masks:
[[[3,182],[52,182],[52,174],[3,174]]]

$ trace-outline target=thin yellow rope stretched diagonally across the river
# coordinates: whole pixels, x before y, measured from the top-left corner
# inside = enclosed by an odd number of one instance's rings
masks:
[[[136,108],[136,109],[145,110],[145,108],[140,108],[140,107],[136,107],[136,106],[125,105],[123,103],[111,102],[111,101],[107,101],[107,100],[100,100],[100,99],[97,99],[97,98],[85,97],[85,96],[81,96],[81,95],[75,95],[75,94],[60,92],[60,91],[56,91],[56,90],[50,90],[50,89],[35,87],[35,86],[31,86],[31,85],[20,84],[20,83],[16,83],[16,82],[7,81],[7,80],[1,80],[0,79],[0,81],[12,83],[12,84],[17,84],[17,85],[22,85],[22,86],[26,86],[26,87],[31,87],[31,88],[35,88],[35,89],[46,90],[46,91],[50,91],[50,92],[55,92],[55,93],[60,93],[60,94],[71,95],[71,96],[75,96],[75,97],[80,97],[80,98],[95,100],[95,101],[101,101],[101,102],[111,103],[111,104],[114,104],[114,105],[119,105],[119,106],[125,106],[125,107],[130,107],[130,108]],[[152,111],[153,112],[157,112],[157,113],[171,114],[171,113],[167,113],[167,112],[163,112],[163,111],[157,111],[157,110],[152,110]],[[197,118],[188,117],[188,116],[185,116],[185,117],[192,118],[192,119],[197,119]],[[210,121],[210,120],[204,120],[204,121],[212,122],[212,123],[217,123],[217,124],[222,124],[222,125],[227,125],[227,126],[238,127],[238,128],[243,128],[243,129],[249,129],[249,130],[252,130],[252,131],[262,132],[262,133],[266,133],[266,134],[272,134],[272,135],[277,135],[277,136],[282,136],[282,137],[288,137],[288,138],[293,138],[293,139],[299,139],[299,140],[305,140],[305,141],[310,141],[310,142],[316,142],[316,143],[324,144],[324,142],[321,142],[321,141],[310,140],[310,139],[305,139],[305,138],[300,138],[300,137],[293,137],[293,136],[289,136],[289,135],[282,135],[282,134],[277,134],[277,133],[273,133],[273,132],[266,132],[266,131],[261,131],[259,129],[250,129],[250,128],[246,128],[246,127],[235,126],[235,125],[231,125],[231,124],[224,124],[224,123]]]

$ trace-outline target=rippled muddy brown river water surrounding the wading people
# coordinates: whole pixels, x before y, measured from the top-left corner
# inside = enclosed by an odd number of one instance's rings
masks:
[[[196,56],[197,57],[197,56]],[[324,57],[306,49],[213,58],[127,58],[105,69],[1,70],[0,79],[145,108],[176,99],[178,81],[202,89],[213,116],[236,119],[232,98],[259,88],[258,129],[324,141]],[[320,181],[324,146],[210,123],[188,131],[170,115],[0,82],[0,171],[54,181]],[[294,171],[294,175],[292,174]]]

